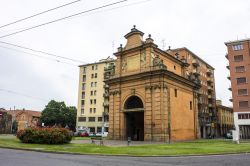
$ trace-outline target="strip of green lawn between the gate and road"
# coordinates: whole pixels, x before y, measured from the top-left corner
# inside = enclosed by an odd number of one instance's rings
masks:
[[[16,138],[0,137],[0,147],[79,154],[131,156],[175,156],[250,152],[249,142],[234,144],[230,140],[197,140],[172,144],[108,147],[73,143],[64,145],[24,144]]]

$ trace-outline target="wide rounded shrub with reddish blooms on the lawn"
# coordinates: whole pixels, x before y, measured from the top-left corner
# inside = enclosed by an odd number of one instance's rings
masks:
[[[27,128],[17,132],[23,143],[64,144],[72,140],[72,134],[65,128]]]

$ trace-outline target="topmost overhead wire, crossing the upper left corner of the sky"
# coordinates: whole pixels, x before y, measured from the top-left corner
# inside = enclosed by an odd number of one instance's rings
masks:
[[[54,10],[57,10],[57,9],[60,9],[60,8],[63,8],[63,7],[69,6],[69,5],[72,5],[72,4],[77,3],[77,2],[80,2],[80,1],[81,1],[81,0],[76,0],[76,1],[73,1],[73,2],[69,2],[69,3],[63,4],[63,5],[60,5],[60,6],[54,7],[54,8],[52,8],[52,9],[45,10],[45,11],[43,11],[43,12],[40,12],[40,13],[37,13],[37,14],[31,15],[31,16],[28,16],[28,17],[25,17],[25,18],[22,18],[22,19],[16,20],[16,21],[13,21],[13,22],[11,22],[11,23],[8,23],[8,24],[5,24],[5,25],[1,25],[1,26],[0,26],[0,28],[4,28],[4,27],[10,26],[10,25],[13,25],[13,24],[19,23],[19,22],[22,22],[22,21],[28,20],[28,19],[33,18],[33,17],[36,17],[36,16],[40,16],[40,15],[42,15],[42,14],[45,14],[45,13],[48,13],[48,12],[51,12],[51,11],[54,11]]]

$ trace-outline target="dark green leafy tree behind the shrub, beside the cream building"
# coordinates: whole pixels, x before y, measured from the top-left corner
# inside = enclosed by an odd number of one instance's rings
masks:
[[[51,100],[42,111],[41,122],[45,126],[68,126],[71,130],[75,130],[76,112],[76,107]]]

